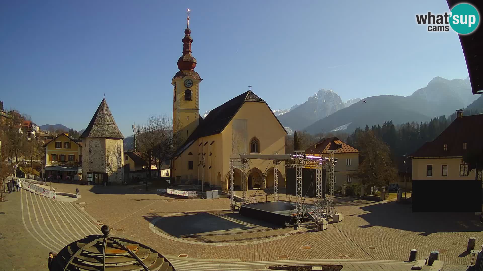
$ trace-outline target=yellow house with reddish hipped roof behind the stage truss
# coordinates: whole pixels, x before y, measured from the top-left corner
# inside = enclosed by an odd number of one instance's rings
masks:
[[[359,150],[339,138],[335,136],[323,138],[306,149],[305,154],[327,157],[329,150],[334,151],[334,159],[337,159],[334,166],[335,188],[357,181],[351,175],[359,168]],[[328,171],[326,171],[326,180],[328,180]]]

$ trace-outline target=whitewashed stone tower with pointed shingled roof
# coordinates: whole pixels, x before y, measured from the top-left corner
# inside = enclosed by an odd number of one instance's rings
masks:
[[[123,139],[106,99],[102,99],[82,138],[82,177],[91,184],[122,184]]]

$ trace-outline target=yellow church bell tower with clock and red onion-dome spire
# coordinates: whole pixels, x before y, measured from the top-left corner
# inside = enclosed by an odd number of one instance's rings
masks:
[[[173,85],[173,133],[180,133],[178,144],[182,144],[199,125],[199,82],[201,78],[194,70],[196,58],[191,55],[191,29],[189,9],[187,27],[183,38],[183,55],[178,59],[179,71],[174,75]]]

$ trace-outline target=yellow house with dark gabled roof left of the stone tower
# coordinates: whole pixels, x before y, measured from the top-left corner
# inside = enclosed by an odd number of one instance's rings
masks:
[[[63,133],[45,144],[45,176],[52,181],[79,179],[82,175],[82,142]]]

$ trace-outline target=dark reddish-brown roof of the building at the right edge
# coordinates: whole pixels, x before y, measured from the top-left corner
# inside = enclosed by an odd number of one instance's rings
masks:
[[[483,142],[483,115],[463,116],[456,118],[446,130],[436,139],[426,142],[411,154],[412,157],[460,157],[466,151],[463,143],[467,143],[467,149],[482,149]],[[448,150],[443,145],[448,144]]]

